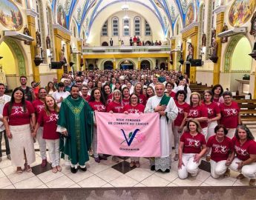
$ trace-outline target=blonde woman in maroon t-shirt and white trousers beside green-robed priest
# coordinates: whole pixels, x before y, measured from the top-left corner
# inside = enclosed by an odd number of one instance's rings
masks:
[[[32,133],[36,136],[37,130],[40,124],[44,127],[42,138],[45,139],[48,150],[51,167],[53,167],[53,173],[62,171],[62,167],[59,165],[59,133],[56,132],[57,120],[59,116],[59,107],[52,96],[45,97],[45,109],[39,113],[37,119],[36,128]]]

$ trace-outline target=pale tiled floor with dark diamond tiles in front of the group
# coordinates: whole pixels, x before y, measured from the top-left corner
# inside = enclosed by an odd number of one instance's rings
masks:
[[[255,129],[253,130],[255,135]],[[3,149],[5,148],[4,145]],[[38,145],[35,144],[35,148]],[[174,157],[174,155],[172,155]],[[179,179],[177,176],[177,161],[172,161],[170,173],[151,171],[148,159],[140,159],[139,168],[129,167],[130,159],[120,159],[120,162],[108,160],[99,164],[90,157],[86,172],[70,173],[70,167],[61,160],[62,172],[52,173],[50,164],[42,168],[39,152],[36,151],[36,162],[33,172],[16,174],[11,161],[2,157],[0,162],[0,188],[66,188],[66,187],[179,187],[179,186],[247,186],[248,179],[237,180],[238,173],[231,172],[229,178],[213,179],[209,173],[209,163],[203,162],[196,177]]]

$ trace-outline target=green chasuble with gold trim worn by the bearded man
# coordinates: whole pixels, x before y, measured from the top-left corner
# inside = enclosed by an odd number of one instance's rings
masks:
[[[93,134],[93,111],[89,104],[81,97],[68,96],[62,101],[58,125],[68,130],[66,141],[60,140],[59,150],[69,156],[72,164],[85,165]]]

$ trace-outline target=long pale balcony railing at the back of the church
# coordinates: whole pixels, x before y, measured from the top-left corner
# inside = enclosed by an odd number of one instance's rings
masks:
[[[170,53],[170,46],[107,46],[82,47],[83,54],[95,53]]]

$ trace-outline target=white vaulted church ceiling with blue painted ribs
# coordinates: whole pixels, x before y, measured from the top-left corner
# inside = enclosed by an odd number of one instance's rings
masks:
[[[132,11],[141,13],[145,19],[147,19],[148,12],[154,14],[162,27],[163,33],[166,34],[169,29],[173,30],[178,16],[180,16],[184,25],[186,12],[191,4],[194,7],[195,15],[197,15],[197,7],[199,7],[200,1],[202,0],[126,0],[126,3],[129,5],[129,10],[130,5],[137,4],[137,7]],[[59,6],[63,7],[69,30],[71,29],[70,24],[75,21],[79,36],[81,36],[82,31],[85,31],[86,36],[89,36],[93,22],[100,13],[109,10],[108,8],[111,6],[125,4],[125,0],[50,0],[50,2],[55,16],[57,8]],[[148,11],[142,13],[140,7],[147,7]],[[113,10],[119,12],[122,9],[119,7],[119,9],[116,10],[115,8]],[[102,15],[100,16],[102,17]],[[103,21],[107,19],[109,13],[106,13],[105,16],[106,18],[102,19]]]

